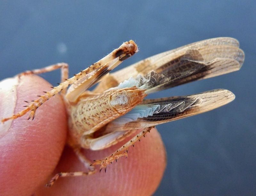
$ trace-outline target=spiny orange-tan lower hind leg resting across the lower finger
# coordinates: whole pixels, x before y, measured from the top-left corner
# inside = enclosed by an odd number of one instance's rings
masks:
[[[108,164],[110,164],[110,163],[112,164],[112,162],[115,161],[115,160],[117,162],[117,159],[119,159],[122,156],[127,157],[128,156],[128,147],[130,147],[130,146],[134,147],[134,143],[138,140],[140,141],[140,138],[142,136],[145,137],[145,134],[147,132],[150,132],[150,130],[152,128],[154,128],[154,126],[144,128],[140,133],[138,133],[136,136],[134,136],[130,141],[128,141],[126,144],[124,144],[118,150],[113,152],[111,155],[105,157],[102,160],[94,160],[94,163],[92,163],[92,165],[100,165],[100,171],[102,170],[102,168],[104,168],[105,172],[106,172]]]

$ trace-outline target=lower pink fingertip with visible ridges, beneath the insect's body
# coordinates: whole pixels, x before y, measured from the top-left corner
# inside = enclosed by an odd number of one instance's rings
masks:
[[[105,150],[84,152],[90,160],[102,159],[128,140]],[[160,134],[153,129],[128,149],[127,159],[122,157],[108,165],[106,173],[104,170],[100,173],[97,167],[97,173],[91,176],[61,177],[50,188],[39,187],[36,195],[151,195],[163,177],[165,166],[165,148]],[[56,172],[84,170],[76,155],[66,147]]]

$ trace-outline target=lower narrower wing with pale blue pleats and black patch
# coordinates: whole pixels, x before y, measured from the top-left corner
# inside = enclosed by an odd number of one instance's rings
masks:
[[[148,99],[124,116],[109,123],[106,131],[150,127],[218,108],[234,99],[235,95],[225,89],[215,89],[188,96]]]

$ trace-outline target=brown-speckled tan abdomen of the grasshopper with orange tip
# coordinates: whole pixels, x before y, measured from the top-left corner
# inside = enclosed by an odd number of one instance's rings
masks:
[[[80,147],[83,135],[88,137],[124,115],[141,103],[145,96],[144,90],[136,87],[113,89],[101,94],[85,93],[76,104],[68,107],[68,144]],[[83,147],[89,148],[86,144]]]

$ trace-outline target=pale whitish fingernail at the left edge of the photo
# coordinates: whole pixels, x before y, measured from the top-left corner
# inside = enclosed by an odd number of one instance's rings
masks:
[[[0,120],[14,114],[17,102],[18,77],[0,81]],[[12,119],[0,122],[0,136],[6,133],[12,125]]]

